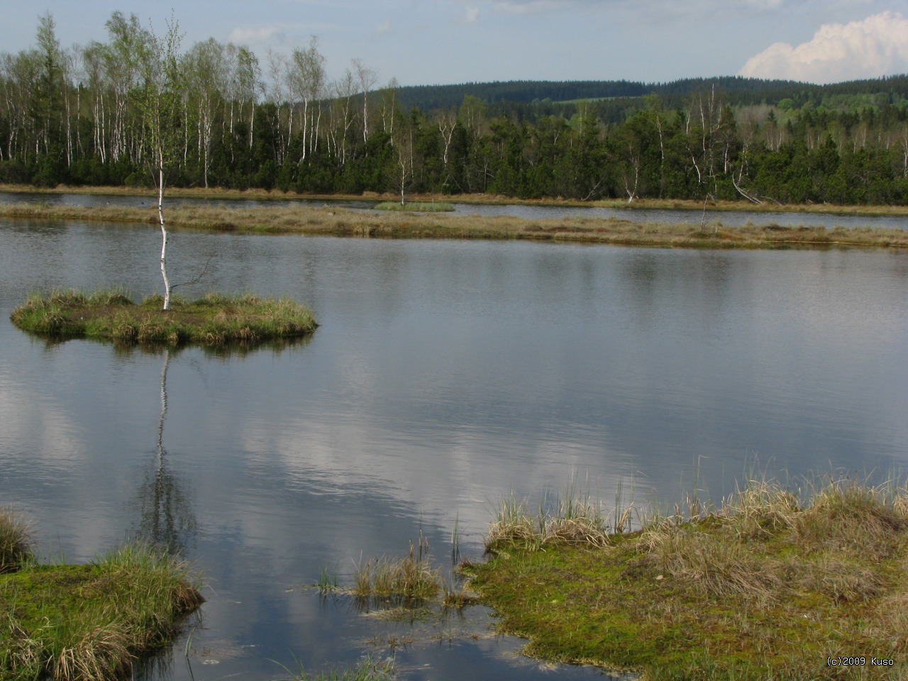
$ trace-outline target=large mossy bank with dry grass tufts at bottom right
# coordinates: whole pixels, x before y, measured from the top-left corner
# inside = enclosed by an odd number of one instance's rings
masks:
[[[753,482],[623,534],[586,501],[508,502],[487,548],[471,587],[533,656],[650,681],[908,675],[904,487],[839,479],[803,503]]]

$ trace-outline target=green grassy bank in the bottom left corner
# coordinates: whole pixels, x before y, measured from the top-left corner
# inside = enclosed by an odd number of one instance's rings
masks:
[[[201,603],[187,566],[146,548],[37,565],[21,521],[0,511],[0,678],[128,678]]]

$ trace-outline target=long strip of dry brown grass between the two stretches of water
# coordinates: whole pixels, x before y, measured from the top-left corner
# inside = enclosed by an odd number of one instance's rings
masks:
[[[756,213],[755,213],[756,214]],[[722,224],[721,215],[706,224],[636,222],[621,218],[479,217],[444,212],[365,212],[333,206],[276,203],[257,208],[171,206],[168,228],[242,233],[298,233],[391,239],[526,240],[695,249],[790,249],[828,247],[908,248],[908,231],[870,227],[783,227],[748,222]],[[0,204],[0,217],[29,220],[131,222],[158,228],[157,208],[70,206],[35,203]]]

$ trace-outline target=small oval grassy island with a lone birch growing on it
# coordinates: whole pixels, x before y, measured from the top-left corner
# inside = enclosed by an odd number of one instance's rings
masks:
[[[209,293],[196,301],[174,297],[168,311],[162,302],[156,295],[136,304],[122,291],[52,291],[30,295],[10,319],[47,337],[128,345],[257,343],[298,338],[317,326],[308,308],[289,300]]]

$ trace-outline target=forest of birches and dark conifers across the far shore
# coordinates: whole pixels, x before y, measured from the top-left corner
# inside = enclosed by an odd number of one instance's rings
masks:
[[[105,29],[64,48],[47,14],[34,47],[0,53],[0,183],[152,186],[157,82],[175,186],[908,203],[908,76],[401,87],[359,59],[330,81],[315,37],[260,60],[183,49],[175,25],[165,51],[135,15]]]

